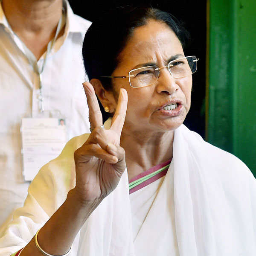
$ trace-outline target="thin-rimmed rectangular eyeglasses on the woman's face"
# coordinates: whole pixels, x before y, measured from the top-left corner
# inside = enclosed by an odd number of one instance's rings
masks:
[[[199,58],[187,56],[170,61],[167,66],[147,66],[133,69],[128,76],[101,76],[106,78],[129,78],[131,87],[139,88],[154,84],[160,75],[160,69],[168,67],[170,74],[174,78],[189,76],[197,70]]]

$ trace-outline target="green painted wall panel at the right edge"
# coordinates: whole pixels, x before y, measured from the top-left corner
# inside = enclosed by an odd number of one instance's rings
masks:
[[[256,0],[209,0],[207,140],[256,176]]]

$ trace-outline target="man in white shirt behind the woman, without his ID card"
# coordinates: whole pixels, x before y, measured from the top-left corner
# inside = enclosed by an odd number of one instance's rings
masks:
[[[81,46],[90,24],[73,14],[67,0],[0,2],[0,225],[23,205],[29,186],[22,118],[60,116],[67,138],[89,132]]]

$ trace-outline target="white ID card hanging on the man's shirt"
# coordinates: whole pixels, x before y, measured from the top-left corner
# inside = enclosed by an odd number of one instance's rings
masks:
[[[24,180],[33,180],[39,169],[57,157],[67,142],[65,119],[23,118],[21,121]]]

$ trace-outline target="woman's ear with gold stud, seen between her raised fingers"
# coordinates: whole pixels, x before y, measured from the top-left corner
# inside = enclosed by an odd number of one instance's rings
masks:
[[[99,98],[103,108],[105,108],[105,111],[114,112],[116,109],[116,101],[113,96],[113,92],[111,90],[106,90],[99,79],[93,78],[90,80],[90,83],[93,85],[95,93]]]

